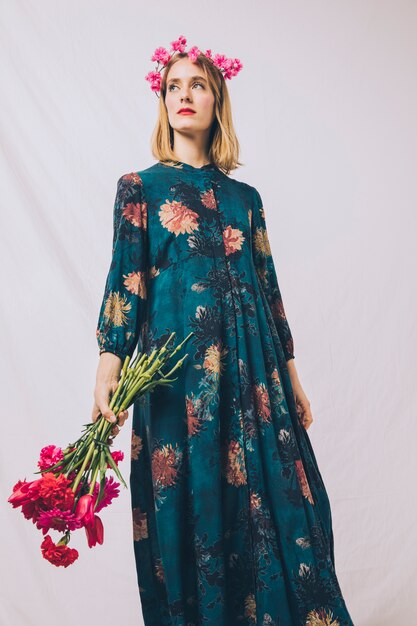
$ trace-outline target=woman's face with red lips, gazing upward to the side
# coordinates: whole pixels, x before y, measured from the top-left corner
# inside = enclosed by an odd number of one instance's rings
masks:
[[[214,94],[204,77],[203,70],[188,57],[180,59],[167,75],[165,105],[172,128],[179,132],[201,132],[213,123]],[[194,113],[180,113],[190,108]]]

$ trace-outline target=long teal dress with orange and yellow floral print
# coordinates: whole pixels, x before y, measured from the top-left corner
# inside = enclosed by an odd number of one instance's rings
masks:
[[[214,164],[122,176],[99,351],[193,335],[134,405],[146,626],[349,626],[329,499],[288,373],[293,338],[259,192]]]

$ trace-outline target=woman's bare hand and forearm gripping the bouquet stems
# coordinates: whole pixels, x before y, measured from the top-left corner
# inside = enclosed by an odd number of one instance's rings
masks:
[[[103,352],[100,355],[96,376],[96,386],[94,389],[94,404],[91,415],[93,422],[97,420],[99,415],[102,415],[108,422],[111,424],[114,423],[114,427],[111,431],[114,437],[119,434],[120,427],[123,426],[129,417],[129,412],[126,409],[125,411],[121,411],[119,413],[116,420],[114,412],[109,407],[110,396],[113,395],[117,389],[121,368],[121,359],[115,354],[111,352]]]

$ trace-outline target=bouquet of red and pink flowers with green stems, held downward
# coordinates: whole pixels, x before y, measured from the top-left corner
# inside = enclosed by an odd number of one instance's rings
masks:
[[[131,364],[131,357],[126,357],[109,403],[116,417],[156,386],[172,386],[170,383],[177,379],[169,377],[182,366],[188,354],[166,374],[162,368],[193,334],[174,350],[167,346],[175,332],[149,356],[138,352]],[[72,531],[84,528],[90,548],[103,543],[104,528],[98,513],[119,495],[120,483],[127,487],[118,467],[123,452],[110,451],[113,428],[114,423],[100,415],[95,422],[85,424],[82,435],[66,448],[55,445],[42,448],[39,471],[35,472],[41,477],[30,482],[19,480],[8,498],[14,508],[21,507],[24,517],[42,531],[42,555],[53,565],[68,567],[78,558],[78,551],[68,546]],[[108,476],[109,471],[120,482]],[[47,534],[51,530],[63,533],[57,543]]]

